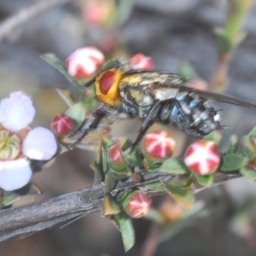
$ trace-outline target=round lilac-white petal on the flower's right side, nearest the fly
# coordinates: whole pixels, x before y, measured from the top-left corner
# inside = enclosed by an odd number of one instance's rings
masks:
[[[23,154],[33,160],[49,160],[56,151],[55,137],[44,127],[37,127],[29,131],[23,142]]]

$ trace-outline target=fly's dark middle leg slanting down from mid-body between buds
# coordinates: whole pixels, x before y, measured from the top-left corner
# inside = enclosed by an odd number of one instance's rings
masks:
[[[146,119],[143,120],[143,125],[141,126],[138,136],[135,140],[134,143],[131,145],[131,152],[137,147],[138,143],[140,143],[141,139],[145,135],[146,131],[148,128],[154,124],[154,118],[155,118],[155,113],[158,112],[158,109],[160,107],[160,101],[155,101],[152,108],[148,111],[148,115]]]

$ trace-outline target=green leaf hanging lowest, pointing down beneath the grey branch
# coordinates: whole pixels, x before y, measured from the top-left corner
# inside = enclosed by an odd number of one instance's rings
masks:
[[[114,215],[117,223],[119,224],[119,230],[122,234],[123,243],[125,246],[125,252],[129,251],[135,243],[135,233],[131,223],[131,218],[128,218],[123,213]]]

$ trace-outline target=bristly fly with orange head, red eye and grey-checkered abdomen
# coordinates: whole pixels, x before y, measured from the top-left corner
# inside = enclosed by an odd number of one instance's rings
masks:
[[[187,87],[188,82],[177,74],[158,70],[127,71],[117,60],[84,86],[92,84],[95,84],[96,98],[102,105],[92,113],[94,119],[86,129],[73,133],[81,133],[81,136],[71,144],[71,148],[90,131],[96,130],[104,117],[141,119],[143,124],[132,144],[135,148],[154,123],[177,126],[196,138],[220,130],[219,114],[207,102],[208,99],[256,108],[253,103],[230,96]]]

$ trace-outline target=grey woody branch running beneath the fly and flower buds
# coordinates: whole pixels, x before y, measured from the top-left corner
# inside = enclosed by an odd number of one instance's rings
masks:
[[[214,185],[224,183],[236,177],[241,177],[241,174],[217,172],[215,173]],[[147,174],[143,182],[126,181],[125,183],[119,183],[112,193],[115,195],[125,189],[136,188],[160,180],[168,182],[170,179],[172,179],[172,175],[165,173]],[[197,193],[205,188],[195,183],[193,189]],[[97,212],[102,208],[102,199],[105,192],[105,185],[100,184],[53,199],[0,211],[0,241],[44,230],[63,221],[78,218],[91,212]],[[148,191],[148,194],[156,195],[150,191]]]

